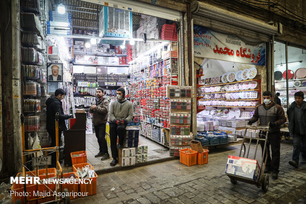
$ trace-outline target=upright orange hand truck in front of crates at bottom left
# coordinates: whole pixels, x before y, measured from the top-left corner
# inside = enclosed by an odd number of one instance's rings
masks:
[[[59,178],[59,176],[61,176],[61,178],[63,178],[63,171],[62,171],[62,167],[61,164],[59,163],[58,159],[59,159],[59,139],[58,139],[58,118],[59,118],[59,113],[56,113],[55,115],[55,131],[56,131],[56,146],[55,147],[47,147],[47,148],[41,148],[41,149],[32,149],[32,150],[26,150],[25,149],[25,124],[24,124],[24,116],[23,114],[21,114],[20,119],[21,119],[21,138],[22,138],[22,174],[23,177],[26,177],[26,155],[31,155],[33,153],[35,153],[35,157],[37,157],[38,152],[45,152],[45,156],[48,155],[50,153],[54,153],[56,152],[56,179]],[[27,168],[28,169],[28,168]],[[46,170],[46,178],[48,178],[48,165],[46,165],[45,167]],[[28,169],[28,171],[30,171]],[[31,176],[38,176],[38,166],[36,166],[36,175],[30,171],[32,173]],[[51,191],[51,196],[47,196],[47,197],[39,197],[39,198],[34,198],[34,199],[28,199],[26,196],[24,197],[24,203],[27,204],[28,202],[34,201],[38,204],[38,200],[40,199],[44,199],[44,198],[48,198],[48,197],[53,197],[54,192],[52,192],[52,190],[50,188],[48,188],[48,185],[43,184],[47,187],[48,190]],[[36,190],[38,191],[38,184],[36,185]],[[62,184],[56,184],[55,187],[55,191],[59,194],[60,192],[64,192],[64,198],[56,196],[54,201],[50,201],[50,202],[46,202],[48,204],[52,204],[52,203],[57,203],[60,204],[62,201],[65,204],[70,204],[70,196],[66,196],[66,193],[68,193],[68,189],[64,189],[62,191]],[[27,186],[26,184],[24,184],[24,192],[27,192]],[[57,195],[58,195],[57,194]],[[45,203],[45,204],[46,204]],[[21,200],[16,200],[15,204],[21,204]]]

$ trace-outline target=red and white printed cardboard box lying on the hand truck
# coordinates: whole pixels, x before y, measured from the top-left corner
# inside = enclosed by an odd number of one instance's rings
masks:
[[[257,160],[229,155],[225,173],[258,181],[260,166]]]

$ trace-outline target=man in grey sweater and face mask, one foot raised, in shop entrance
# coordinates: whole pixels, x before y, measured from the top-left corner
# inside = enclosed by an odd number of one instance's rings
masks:
[[[133,105],[125,99],[124,88],[117,89],[117,100],[110,105],[110,136],[113,161],[111,166],[118,163],[117,136],[119,137],[118,148],[123,148],[126,134],[126,125],[133,119]]]

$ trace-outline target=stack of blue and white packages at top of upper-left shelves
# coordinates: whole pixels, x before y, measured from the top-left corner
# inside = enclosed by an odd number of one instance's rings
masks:
[[[50,35],[72,35],[71,13],[60,14],[57,11],[49,11],[47,21],[47,34]]]

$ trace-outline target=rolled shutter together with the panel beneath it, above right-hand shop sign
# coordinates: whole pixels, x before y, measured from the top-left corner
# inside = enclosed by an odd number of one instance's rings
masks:
[[[191,3],[193,23],[227,33],[268,41],[278,28],[263,21],[239,15],[228,10],[199,2]]]

